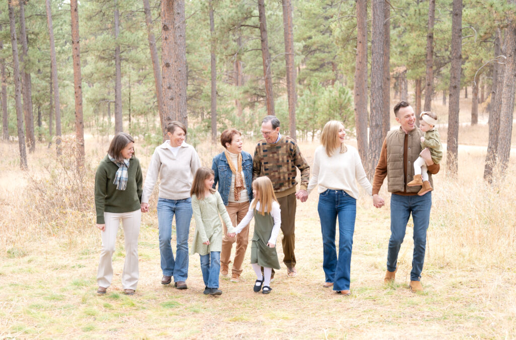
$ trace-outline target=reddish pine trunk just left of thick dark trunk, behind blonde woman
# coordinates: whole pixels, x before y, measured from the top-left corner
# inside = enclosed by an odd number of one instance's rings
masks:
[[[367,157],[367,0],[357,0],[357,57],[353,102],[358,152],[364,168],[370,173]]]

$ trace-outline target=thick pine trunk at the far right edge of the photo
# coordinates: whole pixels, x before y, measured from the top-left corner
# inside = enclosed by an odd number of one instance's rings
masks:
[[[509,0],[509,4],[514,4]],[[511,151],[512,115],[514,111],[514,83],[516,82],[516,21],[512,19],[505,31],[506,53],[504,83],[501,91],[502,105],[500,109],[500,127],[496,155],[505,173],[509,164]]]

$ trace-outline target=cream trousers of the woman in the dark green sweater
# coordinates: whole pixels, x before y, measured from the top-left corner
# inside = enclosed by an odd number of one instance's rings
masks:
[[[134,289],[138,284],[138,234],[140,233],[140,209],[130,213],[104,213],[106,228],[101,231],[102,250],[100,252],[97,282],[99,287],[109,287],[113,279],[112,257],[117,242],[120,220],[124,228],[125,263],[122,272],[123,289]]]

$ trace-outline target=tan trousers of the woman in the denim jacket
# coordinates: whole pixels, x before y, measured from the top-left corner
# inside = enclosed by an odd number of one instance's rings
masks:
[[[249,201],[244,203],[228,202],[226,206],[231,222],[236,226],[246,216],[249,210]],[[249,224],[242,229],[235,237],[228,237],[228,229],[223,224],[224,236],[222,237],[222,251],[220,252],[220,263],[229,265],[231,257],[231,249],[236,242],[235,259],[233,260],[233,268],[231,272],[240,275],[242,273],[242,263],[246,256],[247,244],[249,242]]]

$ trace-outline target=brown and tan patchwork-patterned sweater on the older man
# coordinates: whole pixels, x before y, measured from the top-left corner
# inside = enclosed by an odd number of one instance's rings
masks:
[[[253,180],[269,177],[276,197],[296,192],[296,167],[301,171],[301,189],[306,190],[310,180],[310,166],[304,159],[294,139],[281,136],[274,144],[265,139],[256,144],[253,157]]]

